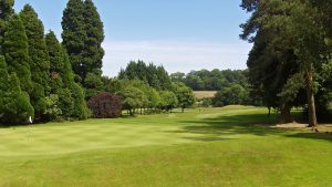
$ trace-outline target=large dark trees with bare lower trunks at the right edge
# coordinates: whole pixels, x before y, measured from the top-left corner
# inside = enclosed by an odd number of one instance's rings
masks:
[[[332,101],[332,1],[242,0],[251,13],[241,39],[253,43],[249,82],[263,104],[291,122],[291,108],[308,110],[310,126],[329,116]]]

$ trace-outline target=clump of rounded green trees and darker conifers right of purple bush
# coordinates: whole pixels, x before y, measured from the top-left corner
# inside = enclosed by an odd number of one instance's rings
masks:
[[[122,108],[129,115],[172,112],[191,107],[193,90],[180,82],[172,82],[162,65],[132,61],[117,77],[103,77],[104,91],[122,100]]]

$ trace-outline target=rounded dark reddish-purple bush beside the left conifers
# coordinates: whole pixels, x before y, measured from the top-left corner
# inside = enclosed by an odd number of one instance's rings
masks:
[[[121,100],[111,93],[102,92],[93,96],[87,105],[94,118],[114,118],[122,115]]]

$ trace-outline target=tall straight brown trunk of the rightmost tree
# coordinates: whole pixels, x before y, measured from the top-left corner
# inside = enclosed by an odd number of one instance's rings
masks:
[[[305,83],[307,83],[307,100],[308,100],[308,111],[309,111],[309,127],[315,127],[318,123],[315,116],[313,77],[311,71],[307,71],[305,73]]]

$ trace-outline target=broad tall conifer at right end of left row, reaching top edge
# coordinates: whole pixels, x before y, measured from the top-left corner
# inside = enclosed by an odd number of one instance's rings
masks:
[[[103,23],[93,1],[70,0],[63,12],[62,28],[63,45],[76,74],[76,81],[86,89],[90,98],[101,91],[104,56]]]

